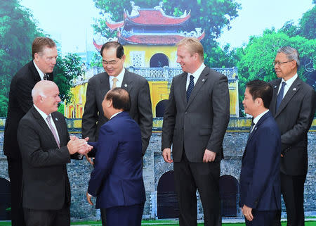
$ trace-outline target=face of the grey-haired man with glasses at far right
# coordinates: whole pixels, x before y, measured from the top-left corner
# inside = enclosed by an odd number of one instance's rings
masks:
[[[296,74],[296,71],[296,61],[289,60],[287,55],[283,53],[277,54],[275,57],[275,73],[277,77],[287,81]]]

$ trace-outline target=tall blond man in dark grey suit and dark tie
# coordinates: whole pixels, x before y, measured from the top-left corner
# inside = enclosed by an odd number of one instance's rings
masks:
[[[172,80],[162,125],[162,156],[173,162],[180,225],[197,225],[197,189],[204,224],[221,225],[218,180],[230,118],[228,79],[204,65],[198,39],[185,38],[177,46],[177,62],[184,73]]]

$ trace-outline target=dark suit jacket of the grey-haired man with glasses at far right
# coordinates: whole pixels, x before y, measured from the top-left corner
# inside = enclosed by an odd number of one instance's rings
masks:
[[[277,92],[281,79],[270,82],[273,88],[270,111],[281,131],[280,169],[286,175],[305,175],[308,170],[308,130],[315,113],[315,90],[299,77],[282,99],[277,111]]]

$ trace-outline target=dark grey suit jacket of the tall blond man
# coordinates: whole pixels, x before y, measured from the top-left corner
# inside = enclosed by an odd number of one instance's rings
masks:
[[[173,144],[173,161],[185,150],[190,162],[202,163],[205,149],[223,157],[223,137],[230,119],[228,79],[206,67],[186,99],[187,73],[173,77],[162,125],[162,150]]]

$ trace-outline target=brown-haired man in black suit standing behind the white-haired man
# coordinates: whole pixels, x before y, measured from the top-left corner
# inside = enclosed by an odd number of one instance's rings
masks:
[[[11,217],[13,226],[23,226],[22,160],[16,138],[20,119],[32,107],[31,91],[41,80],[53,81],[53,68],[57,58],[56,44],[48,37],[37,37],[32,44],[32,61],[25,64],[11,81],[8,114],[4,130],[4,154],[8,159],[11,182]]]

